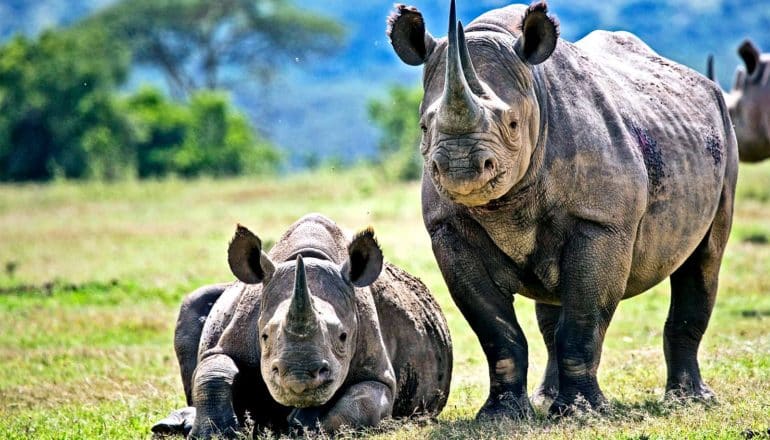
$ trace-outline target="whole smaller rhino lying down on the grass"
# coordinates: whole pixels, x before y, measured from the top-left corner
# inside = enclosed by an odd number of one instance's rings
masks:
[[[154,432],[233,437],[247,412],[255,432],[333,432],[446,404],[444,316],[425,285],[383,263],[370,229],[349,242],[308,215],[267,255],[239,225],[228,261],[239,282],[182,304],[174,346],[189,407]]]

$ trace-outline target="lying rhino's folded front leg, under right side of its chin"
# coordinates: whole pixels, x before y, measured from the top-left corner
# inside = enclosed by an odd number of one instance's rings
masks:
[[[320,428],[335,432],[342,426],[364,428],[376,426],[393,411],[393,392],[382,382],[366,381],[348,387],[336,402],[323,408],[292,411],[289,424],[295,428]]]

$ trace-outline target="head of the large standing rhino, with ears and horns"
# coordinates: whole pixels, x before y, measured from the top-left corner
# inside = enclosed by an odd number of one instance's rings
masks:
[[[558,23],[545,2],[512,23],[464,32],[455,3],[446,39],[422,14],[397,5],[388,35],[399,58],[424,64],[420,106],[425,175],[440,194],[466,206],[498,199],[524,176],[540,135],[533,66],[553,53]]]

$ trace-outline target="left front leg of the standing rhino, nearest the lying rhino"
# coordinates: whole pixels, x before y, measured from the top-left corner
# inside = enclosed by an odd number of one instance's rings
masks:
[[[452,299],[487,358],[489,396],[476,417],[530,417],[527,340],[514,313],[512,294],[492,279],[492,274],[501,280],[510,276],[508,262],[479,226],[465,222],[462,231],[443,224],[431,230],[431,239]],[[466,238],[471,234],[473,239]]]

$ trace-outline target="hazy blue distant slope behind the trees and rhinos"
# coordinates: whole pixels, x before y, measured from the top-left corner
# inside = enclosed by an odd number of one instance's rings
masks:
[[[13,32],[35,33],[41,27],[71,23],[113,0],[5,0],[0,4],[0,37]],[[414,0],[424,12],[428,29],[446,34],[447,0]],[[336,156],[353,161],[370,156],[377,131],[366,114],[366,103],[385,96],[392,84],[418,84],[421,69],[401,64],[385,37],[385,17],[392,0],[304,0],[303,7],[337,18],[348,30],[347,47],[337,56],[296,60],[277,75],[265,91],[254,81],[234,94],[258,125],[284,146],[299,166],[304,159]],[[501,0],[458,0],[458,15],[468,22],[482,12],[508,4]],[[704,71],[714,53],[723,85],[732,80],[740,59],[735,49],[751,37],[770,51],[770,0],[651,1],[552,0],[551,11],[561,21],[562,36],[575,41],[594,29],[627,30],[660,54]],[[147,76],[162,83],[160,76]]]

